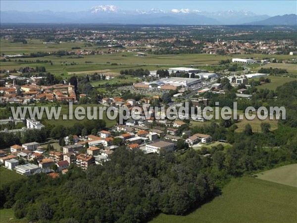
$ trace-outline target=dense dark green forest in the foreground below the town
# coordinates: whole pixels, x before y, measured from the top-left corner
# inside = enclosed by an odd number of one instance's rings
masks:
[[[297,162],[297,81],[279,87],[276,94],[277,100],[262,103],[286,107],[287,119],[277,130],[270,131],[269,124],[261,124],[263,133],[252,132],[249,124],[242,133],[234,132],[236,123],[195,127],[192,133],[211,133],[214,138],[221,134],[232,147],[164,156],[120,147],[109,162],[85,172],[71,166],[55,179],[36,174],[4,185],[0,207],[13,208],[17,218],[32,222],[130,223],[159,213],[187,214],[218,196],[232,177]],[[277,147],[267,148],[271,142]]]

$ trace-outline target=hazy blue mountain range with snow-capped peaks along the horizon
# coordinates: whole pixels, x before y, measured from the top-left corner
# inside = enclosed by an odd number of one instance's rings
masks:
[[[251,11],[207,12],[198,9],[121,10],[114,5],[98,5],[79,12],[1,11],[1,23],[117,23],[172,25],[297,25],[297,15],[270,17]]]

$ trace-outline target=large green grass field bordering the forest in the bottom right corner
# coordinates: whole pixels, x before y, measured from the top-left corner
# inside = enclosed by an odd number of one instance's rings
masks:
[[[252,177],[233,179],[222,195],[187,216],[160,214],[151,223],[296,223],[295,187]]]

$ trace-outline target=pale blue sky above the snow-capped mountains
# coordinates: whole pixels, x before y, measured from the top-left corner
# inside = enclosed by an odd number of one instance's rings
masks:
[[[96,5],[111,4],[122,10],[149,10],[158,8],[162,10],[171,10],[189,8],[198,9],[200,11],[216,12],[226,11],[229,9],[240,11],[248,10],[256,14],[267,14],[269,16],[296,14],[296,0],[218,0],[218,1],[182,1],[182,0],[138,0],[138,1],[101,1],[101,0],[0,0],[1,11],[17,10],[17,11],[85,11]]]

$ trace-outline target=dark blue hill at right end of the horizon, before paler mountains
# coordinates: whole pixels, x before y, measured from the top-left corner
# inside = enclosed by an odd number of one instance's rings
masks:
[[[245,23],[246,25],[289,25],[297,26],[297,15],[296,14],[285,14],[270,17],[265,20]]]

